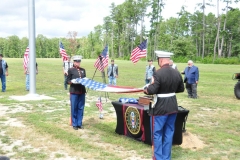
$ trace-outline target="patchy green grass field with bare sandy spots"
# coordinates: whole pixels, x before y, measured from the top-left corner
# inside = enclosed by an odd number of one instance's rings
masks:
[[[69,126],[69,95],[64,90],[61,59],[37,59],[36,93],[55,100],[12,100],[9,96],[26,95],[22,59],[5,59],[9,65],[7,90],[0,92],[0,155],[12,159],[151,159],[151,147],[115,133],[116,113],[111,101],[120,97],[138,98],[143,93],[108,93],[104,101],[104,119],[98,118],[95,106],[104,93],[88,90],[84,112],[84,130]],[[95,60],[83,59],[81,66],[87,77],[102,82],[95,73]],[[117,84],[142,87],[146,62],[133,65],[116,60],[119,66]],[[154,62],[157,66],[157,62]],[[177,64],[182,71],[186,64]],[[177,94],[179,106],[190,113],[187,133],[204,146],[173,146],[173,160],[238,160],[240,159],[240,100],[233,93],[236,81],[232,74],[240,72],[239,65],[195,64],[200,70],[199,99],[188,99],[186,91]],[[157,67],[158,68],[158,67]],[[190,146],[190,147],[188,147]]]

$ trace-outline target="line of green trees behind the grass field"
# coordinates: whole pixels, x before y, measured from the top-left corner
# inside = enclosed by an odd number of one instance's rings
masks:
[[[107,44],[111,58],[129,60],[131,51],[144,39],[148,39],[148,58],[155,59],[154,50],[174,53],[176,61],[193,59],[203,63],[240,62],[240,10],[229,4],[238,0],[223,0],[224,12],[219,14],[219,0],[215,0],[217,15],[205,14],[211,1],[197,4],[194,13],[182,6],[178,17],[164,19],[163,0],[125,0],[120,5],[111,3],[110,15],[103,24],[94,27],[88,36],[77,38],[76,31],[69,31],[64,38],[36,37],[36,57],[59,58],[59,41],[69,55],[80,54],[84,58],[96,58]],[[148,8],[151,8],[150,11]],[[150,22],[145,22],[146,17]],[[146,23],[150,29],[146,29]],[[0,37],[0,53],[5,57],[23,57],[26,37]]]

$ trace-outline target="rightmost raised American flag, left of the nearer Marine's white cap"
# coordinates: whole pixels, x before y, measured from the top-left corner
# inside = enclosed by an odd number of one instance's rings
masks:
[[[144,40],[139,46],[133,49],[131,53],[131,61],[135,64],[140,58],[147,56],[147,40]]]

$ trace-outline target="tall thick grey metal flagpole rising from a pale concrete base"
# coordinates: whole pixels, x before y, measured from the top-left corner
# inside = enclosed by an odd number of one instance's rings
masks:
[[[35,1],[28,1],[28,34],[29,34],[29,95],[36,96],[36,42],[35,42]]]

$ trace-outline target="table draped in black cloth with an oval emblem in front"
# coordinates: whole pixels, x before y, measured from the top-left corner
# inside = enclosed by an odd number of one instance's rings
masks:
[[[130,103],[124,104],[118,101],[113,101],[112,105],[117,115],[115,132],[151,145],[149,106]],[[188,113],[189,110],[181,106],[178,107],[173,135],[173,144],[175,145],[182,144],[182,132],[185,131]]]

